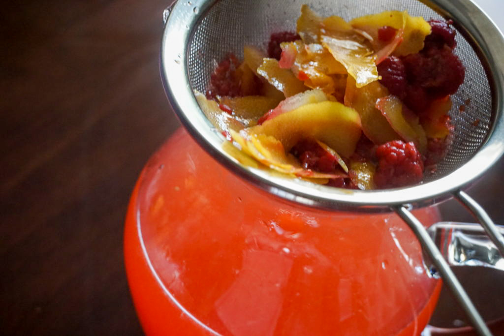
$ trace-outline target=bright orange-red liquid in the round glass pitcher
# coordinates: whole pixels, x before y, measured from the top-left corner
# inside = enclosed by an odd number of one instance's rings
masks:
[[[417,211],[424,223],[434,209]],[[147,334],[420,334],[441,283],[395,214],[275,198],[178,131],[142,172],[124,234]]]

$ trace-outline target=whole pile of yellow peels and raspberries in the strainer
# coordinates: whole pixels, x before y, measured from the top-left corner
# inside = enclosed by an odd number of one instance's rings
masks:
[[[245,46],[242,62],[228,54],[196,98],[243,164],[335,187],[416,184],[444,157],[464,81],[450,24],[304,5],[297,32],[273,33],[268,53]]]

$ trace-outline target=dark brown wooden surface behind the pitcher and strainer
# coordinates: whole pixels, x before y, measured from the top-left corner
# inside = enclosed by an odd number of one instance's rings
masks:
[[[143,164],[179,125],[158,71],[166,5],[2,3],[0,333],[142,333],[122,226]],[[471,191],[497,222],[503,169]],[[461,209],[445,214],[471,220]]]

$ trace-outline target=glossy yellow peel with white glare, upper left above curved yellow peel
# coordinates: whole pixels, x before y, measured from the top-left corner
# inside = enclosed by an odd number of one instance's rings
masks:
[[[285,97],[293,96],[307,89],[290,70],[281,69],[278,60],[274,58],[264,58],[257,73],[277,90],[282,91]]]

